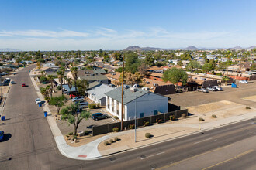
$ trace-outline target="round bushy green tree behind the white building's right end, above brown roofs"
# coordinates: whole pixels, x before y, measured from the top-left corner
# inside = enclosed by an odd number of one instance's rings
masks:
[[[182,83],[187,82],[188,74],[185,72],[185,70],[174,67],[164,71],[163,80],[164,82],[170,81],[177,87],[179,81],[182,81]]]

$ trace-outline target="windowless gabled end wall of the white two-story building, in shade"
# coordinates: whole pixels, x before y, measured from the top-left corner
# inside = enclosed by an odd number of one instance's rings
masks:
[[[142,97],[137,98],[136,102],[126,104],[127,116],[126,121],[134,119],[135,116],[135,103],[137,105],[137,117],[140,117],[140,113],[144,113],[144,117],[154,115],[154,110],[161,113],[168,112],[168,97],[163,97],[155,93],[147,93]]]

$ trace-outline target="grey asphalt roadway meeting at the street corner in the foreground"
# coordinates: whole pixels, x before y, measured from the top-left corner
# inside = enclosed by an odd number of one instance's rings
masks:
[[[17,84],[12,85],[6,100],[4,113],[7,120],[0,121],[0,128],[5,131],[8,138],[0,142],[0,169],[171,169],[174,168],[174,164],[175,166],[185,165],[185,162],[192,159],[198,162],[195,165],[197,169],[212,165],[215,165],[212,168],[219,169],[231,167],[238,169],[241,166],[247,169],[256,165],[254,163],[256,148],[253,151],[251,151],[252,148],[246,148],[246,144],[253,143],[251,138],[256,136],[256,124],[252,124],[256,120],[164,141],[157,145],[125,151],[95,161],[66,158],[57,150],[47,119],[43,117],[43,110],[34,102],[37,96],[29,79],[29,70],[31,67],[20,70],[19,74],[14,76]],[[28,84],[28,87],[21,87],[22,83]],[[231,157],[228,158],[221,155],[222,148],[233,151],[234,149],[229,146],[240,147],[241,142],[245,148],[236,154],[239,155],[244,151],[246,154],[239,158],[233,158],[236,155],[232,157],[232,152],[228,155]],[[220,154],[220,160],[210,159],[209,154],[213,151],[216,151],[216,155]],[[200,161],[197,160],[196,158],[201,155],[208,155],[209,158],[204,156]],[[225,162],[229,159],[230,161]],[[243,160],[248,163],[242,163]],[[203,161],[208,162],[207,166],[200,164]],[[220,162],[223,163],[218,164]]]

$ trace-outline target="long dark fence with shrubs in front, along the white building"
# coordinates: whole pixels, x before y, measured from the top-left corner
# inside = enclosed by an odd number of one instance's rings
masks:
[[[137,118],[137,126],[144,126],[144,121],[149,121],[150,124],[156,123],[157,118],[161,119],[163,121],[168,121],[170,120],[171,115],[175,115],[176,118],[182,117],[182,114],[185,114],[185,116],[188,116],[188,109],[185,110],[176,110],[172,112],[168,112],[166,114],[157,114],[154,116],[149,116],[149,117],[143,117],[143,118]],[[134,124],[134,120],[130,121],[123,121],[123,127],[128,128],[129,124]],[[121,122],[117,123],[112,123],[112,124],[104,124],[100,126],[93,126],[92,127],[92,135],[98,135],[98,134],[107,134],[109,132],[112,132],[112,128],[117,127],[121,128]]]

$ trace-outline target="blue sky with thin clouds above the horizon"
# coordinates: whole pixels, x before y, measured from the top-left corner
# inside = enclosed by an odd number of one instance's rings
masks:
[[[256,45],[256,1],[0,0],[0,49]]]

